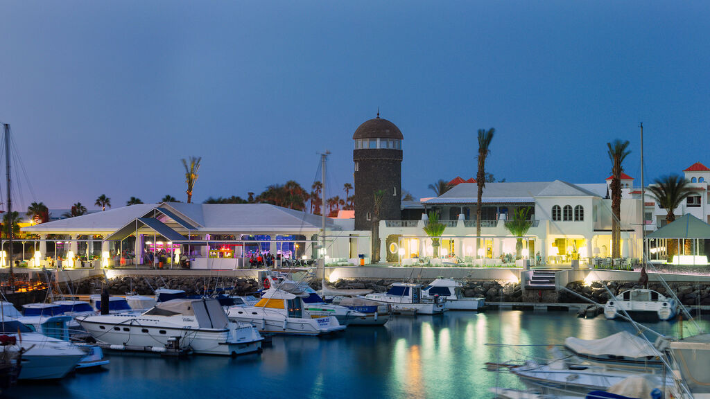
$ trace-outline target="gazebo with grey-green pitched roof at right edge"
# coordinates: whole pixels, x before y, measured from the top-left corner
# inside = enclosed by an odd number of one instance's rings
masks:
[[[667,240],[682,240],[682,245],[679,246],[679,253],[684,251],[680,248],[685,248],[684,242],[690,240],[692,245],[692,253],[690,254],[679,254],[674,256],[669,263],[674,265],[707,265],[708,260],[706,256],[706,246],[701,246],[701,240],[710,239],[710,224],[703,222],[702,220],[694,217],[692,214],[685,214],[680,219],[669,223],[660,229],[648,234],[646,236],[646,241],[648,244],[650,240],[662,240],[662,246],[650,247],[651,254],[658,254],[665,251]],[[655,241],[658,242],[658,241]],[[654,251],[655,250],[655,251]]]

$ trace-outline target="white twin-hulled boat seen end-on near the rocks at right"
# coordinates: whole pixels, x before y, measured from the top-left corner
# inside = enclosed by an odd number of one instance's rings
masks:
[[[614,319],[623,311],[633,315],[652,315],[660,320],[672,319],[678,312],[678,304],[673,298],[665,297],[654,290],[635,288],[626,290],[608,300],[604,305],[604,317]]]

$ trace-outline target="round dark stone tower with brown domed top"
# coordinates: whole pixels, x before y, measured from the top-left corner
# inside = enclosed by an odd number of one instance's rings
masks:
[[[375,119],[357,128],[353,140],[355,229],[371,229],[377,190],[385,190],[380,220],[401,219],[402,132],[391,121],[381,119],[378,112]]]

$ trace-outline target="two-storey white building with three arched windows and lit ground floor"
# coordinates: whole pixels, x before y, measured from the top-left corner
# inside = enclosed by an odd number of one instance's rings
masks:
[[[523,239],[523,257],[546,263],[569,263],[611,254],[611,199],[608,184],[553,182],[490,182],[483,193],[481,248],[476,240],[475,183],[461,183],[439,197],[422,200],[427,212],[436,211],[446,225],[441,241],[442,256],[455,256],[465,263],[495,263],[501,256],[515,255],[516,239],[505,224],[515,209],[530,207],[532,221]],[[631,193],[633,178],[622,179],[621,253],[641,256],[641,204]],[[425,217],[422,217],[425,219]],[[388,261],[432,256],[431,240],[423,228],[426,220],[384,220],[380,223],[381,253]],[[393,245],[396,243],[396,245]],[[534,263],[534,262],[533,262]]]

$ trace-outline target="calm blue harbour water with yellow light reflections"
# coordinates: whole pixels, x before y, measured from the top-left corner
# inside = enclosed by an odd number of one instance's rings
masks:
[[[707,318],[707,316],[705,316]],[[707,329],[708,323],[701,322]],[[677,322],[645,324],[679,332]],[[684,322],[684,333],[694,332]],[[488,387],[521,388],[486,361],[546,356],[547,344],[632,331],[628,322],[574,312],[448,312],[396,316],[384,327],[349,327],[328,338],[275,337],[263,354],[187,360],[109,352],[105,371],[58,384],[21,384],[10,398],[490,398]],[[540,345],[491,346],[486,344]]]

